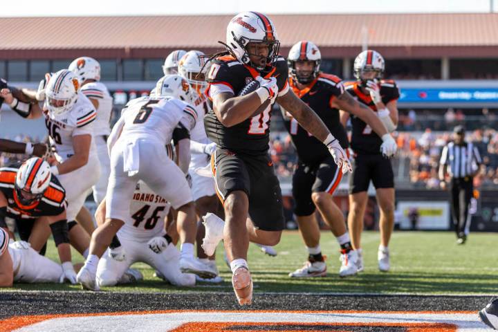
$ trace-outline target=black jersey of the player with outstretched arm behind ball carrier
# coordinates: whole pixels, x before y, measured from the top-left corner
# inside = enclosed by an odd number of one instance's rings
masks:
[[[341,79],[335,75],[320,73],[303,90],[297,89],[292,79],[289,79],[289,84],[294,93],[322,119],[332,135],[339,140],[341,147],[343,149],[349,147],[346,129],[340,123],[339,110],[331,106],[333,100],[344,93]],[[330,156],[329,149],[323,142],[301,127],[285,109],[282,107],[281,109],[286,129],[291,134],[299,160],[303,163],[314,164]]]

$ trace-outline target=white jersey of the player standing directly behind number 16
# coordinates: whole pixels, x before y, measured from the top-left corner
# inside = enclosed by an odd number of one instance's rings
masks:
[[[109,120],[111,120],[113,98],[105,86],[101,82],[91,82],[82,86],[80,90],[86,97],[98,100],[99,106],[97,109],[97,118],[93,124],[93,132],[95,136],[104,136],[111,133]]]

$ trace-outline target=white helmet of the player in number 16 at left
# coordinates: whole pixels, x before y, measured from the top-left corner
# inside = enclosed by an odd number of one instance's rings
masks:
[[[67,69],[57,71],[45,88],[45,107],[55,115],[66,113],[76,102],[78,89],[80,82],[75,73]]]

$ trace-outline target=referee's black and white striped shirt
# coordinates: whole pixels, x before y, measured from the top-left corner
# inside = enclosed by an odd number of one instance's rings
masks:
[[[449,142],[443,147],[439,163],[448,165],[448,174],[452,178],[465,178],[477,171],[482,160],[479,150],[472,143],[455,145],[454,142]]]

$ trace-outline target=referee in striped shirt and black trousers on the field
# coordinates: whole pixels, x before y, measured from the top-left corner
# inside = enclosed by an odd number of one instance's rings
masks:
[[[472,142],[465,142],[465,129],[454,127],[453,142],[443,147],[439,160],[439,180],[446,189],[445,176],[450,177],[450,201],[453,223],[457,231],[457,243],[463,244],[470,228],[469,205],[472,198],[473,178],[482,163],[479,150]]]

